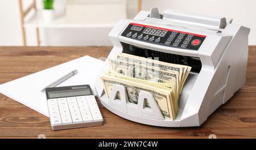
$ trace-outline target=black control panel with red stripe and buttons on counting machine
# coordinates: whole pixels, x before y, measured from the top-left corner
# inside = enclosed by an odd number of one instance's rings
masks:
[[[152,44],[189,50],[198,50],[206,37],[195,33],[137,23],[130,23],[121,36]]]

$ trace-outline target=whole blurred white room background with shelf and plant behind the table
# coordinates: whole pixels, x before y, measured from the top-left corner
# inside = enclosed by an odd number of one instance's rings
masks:
[[[108,33],[119,19],[151,7],[233,18],[251,28],[249,45],[256,45],[255,6],[255,0],[0,0],[0,46],[112,45]]]

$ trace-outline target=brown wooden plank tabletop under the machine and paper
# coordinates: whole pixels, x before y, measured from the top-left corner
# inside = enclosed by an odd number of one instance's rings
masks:
[[[0,84],[111,47],[0,47]],[[0,138],[256,138],[256,46],[249,47],[246,84],[200,127],[155,127],[127,121],[98,101],[102,126],[52,131],[49,118],[0,94]]]

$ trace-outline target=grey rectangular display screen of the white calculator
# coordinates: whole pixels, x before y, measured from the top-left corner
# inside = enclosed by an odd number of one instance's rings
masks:
[[[57,97],[71,97],[71,96],[81,96],[81,95],[92,95],[90,89],[68,89],[63,91],[51,91],[48,92],[48,98],[57,98]]]

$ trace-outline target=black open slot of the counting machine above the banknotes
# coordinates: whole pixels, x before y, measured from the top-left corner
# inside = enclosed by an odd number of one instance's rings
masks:
[[[126,44],[123,42],[121,44],[123,46],[123,53],[137,55],[145,58],[150,57],[152,59],[158,59],[159,61],[168,62],[168,63],[188,65],[192,67],[191,69],[192,72],[197,72],[197,73],[199,73],[202,68],[200,58],[198,57],[189,57],[185,55],[163,53],[163,52],[158,52],[156,50],[139,48],[138,46]]]

